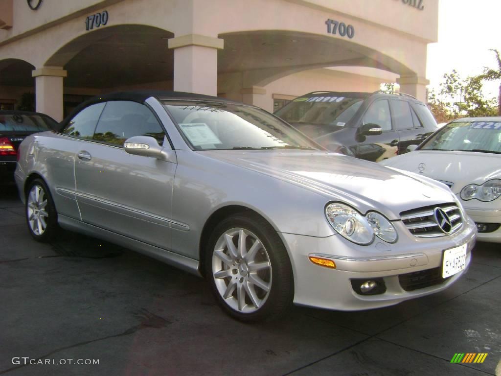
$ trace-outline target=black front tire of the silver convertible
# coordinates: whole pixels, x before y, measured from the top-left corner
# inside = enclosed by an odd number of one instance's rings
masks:
[[[244,239],[245,242],[248,241],[249,245],[254,244],[253,241],[255,241],[255,239],[253,238],[257,238],[264,246],[258,248],[259,251],[254,252],[256,258],[261,257],[260,260],[255,260],[253,258],[252,262],[248,265],[245,260],[240,260],[240,263],[244,263],[246,265],[243,267],[245,269],[244,273],[247,273],[246,276],[240,274],[239,264],[236,266],[236,270],[238,270],[238,272],[235,272],[235,269],[231,269],[235,268],[235,264],[233,264],[233,266],[226,266],[227,264],[225,262],[219,261],[219,258],[214,256],[216,244],[222,241],[223,235],[227,234],[227,232],[235,230],[243,230],[244,233],[248,233]],[[239,237],[236,240],[232,240],[234,241],[233,244],[237,245],[238,239]],[[225,247],[229,254],[227,245]],[[247,248],[252,249],[252,247],[246,247],[246,249]],[[205,252],[205,276],[209,282],[216,301],[231,317],[243,322],[270,321],[284,315],[292,305],[294,297],[294,277],[287,250],[275,229],[261,216],[255,213],[240,213],[224,219],[214,229],[207,243]],[[250,253],[251,252],[248,252],[248,254]],[[267,260],[269,260],[269,263]],[[258,272],[251,271],[252,264],[263,264],[263,261],[265,261],[265,264],[268,263],[270,267]],[[222,268],[219,272],[227,272],[229,276],[216,278],[214,273],[216,273],[217,270],[213,270],[215,268],[214,263],[216,264],[216,268],[218,263],[221,263]],[[227,270],[222,270],[226,267],[228,268]],[[232,272],[234,274],[231,274]],[[269,292],[262,290],[259,284],[254,284],[250,281],[250,278],[252,278],[250,277],[251,274],[257,276],[257,273],[262,272],[265,273],[265,276],[270,277],[269,282],[271,285],[268,290]],[[234,277],[235,275],[236,277]],[[233,283],[238,283],[239,281],[240,285],[237,285],[232,295],[225,299],[223,298],[223,294],[221,292],[222,290],[220,291],[220,289],[227,287],[232,282],[233,278],[236,280],[236,282]],[[261,302],[264,301],[264,303],[258,306],[253,304],[253,300],[250,298],[249,293],[244,294],[244,300],[247,301],[244,309],[254,309],[254,311],[244,312],[243,310],[240,310],[240,303],[236,295],[239,293],[237,290],[238,286],[241,286],[242,280],[244,280],[243,284],[246,284],[247,288],[249,287],[249,284],[252,285],[250,287],[254,291],[254,296],[259,297],[259,295],[262,295],[262,299],[260,300]],[[267,280],[267,278],[265,278],[265,280]],[[263,279],[260,278],[260,281],[263,281]],[[218,285],[216,285],[216,283]],[[233,307],[231,306],[230,301],[232,301]],[[235,301],[237,303],[235,303]],[[235,308],[234,304],[237,304],[238,307]]]

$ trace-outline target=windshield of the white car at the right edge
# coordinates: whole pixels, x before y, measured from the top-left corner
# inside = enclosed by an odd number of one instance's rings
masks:
[[[449,123],[420,149],[501,154],[501,122],[462,121]]]

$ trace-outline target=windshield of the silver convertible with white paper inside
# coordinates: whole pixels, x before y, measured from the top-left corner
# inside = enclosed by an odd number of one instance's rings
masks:
[[[255,107],[205,101],[163,104],[195,150],[320,148],[289,124]]]

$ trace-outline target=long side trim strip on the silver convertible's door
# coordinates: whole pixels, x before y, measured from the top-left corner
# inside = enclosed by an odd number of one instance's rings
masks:
[[[100,197],[96,197],[93,195],[88,195],[76,191],[67,190],[64,188],[57,187],[56,192],[62,196],[68,197],[67,195],[74,195],[77,198],[81,199],[88,205],[96,206],[102,209],[113,210],[114,212],[124,214],[124,215],[133,215],[135,218],[138,218],[143,221],[152,222],[160,226],[169,227],[175,230],[180,231],[189,231],[190,228],[188,225],[174,221],[170,218],[161,217],[153,213],[145,212],[142,210],[138,210],[135,208],[131,208],[129,206],[121,205],[114,203],[109,200],[102,199]],[[111,207],[111,208],[110,208]]]

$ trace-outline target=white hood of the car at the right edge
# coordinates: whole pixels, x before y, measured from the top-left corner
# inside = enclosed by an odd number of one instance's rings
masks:
[[[501,154],[416,150],[386,159],[381,164],[450,182],[456,194],[467,184],[483,184],[501,178]]]

